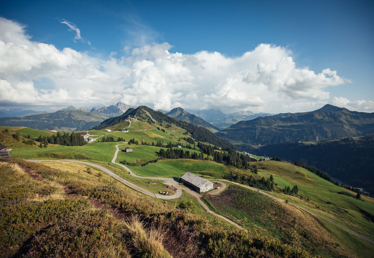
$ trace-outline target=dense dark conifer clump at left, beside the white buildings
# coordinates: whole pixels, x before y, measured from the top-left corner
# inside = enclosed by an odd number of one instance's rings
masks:
[[[39,136],[36,139],[37,142],[45,143],[45,144],[59,144],[64,146],[82,146],[85,145],[85,139],[80,136],[79,133],[72,132],[61,134],[60,132],[56,133],[56,135],[51,136]]]

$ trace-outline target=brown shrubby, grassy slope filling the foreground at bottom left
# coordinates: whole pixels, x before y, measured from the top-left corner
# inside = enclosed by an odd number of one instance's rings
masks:
[[[0,160],[1,257],[311,257],[141,195],[98,171]]]

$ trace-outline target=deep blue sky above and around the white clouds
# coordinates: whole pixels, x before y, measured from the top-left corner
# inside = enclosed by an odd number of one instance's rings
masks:
[[[25,33],[32,35],[33,42],[55,45],[60,51],[72,48],[103,60],[111,52],[116,52],[112,56],[117,59],[126,58],[132,56],[134,48],[163,42],[172,46],[170,53],[193,55],[203,50],[217,51],[228,58],[240,57],[259,44],[272,44],[292,51],[289,56],[297,68],[307,67],[316,74],[329,68],[346,79],[338,86],[325,85],[323,91],[329,92],[329,98],[323,98],[322,102],[331,103],[333,97],[342,97],[350,104],[373,101],[373,2],[300,2],[7,1],[1,4],[0,17],[25,25]],[[61,23],[63,20],[74,23],[86,41],[74,42],[75,32],[68,31],[68,26]],[[33,79],[34,85],[38,88],[48,78]],[[217,81],[218,85],[223,83]],[[314,103],[317,99],[314,98]],[[299,100],[303,103],[305,97]],[[94,104],[82,104],[90,103]],[[175,101],[165,104],[164,108],[179,103],[184,102]],[[335,103],[348,105],[344,100]],[[358,108],[357,103],[351,107]],[[240,109],[227,109],[233,108]],[[309,106],[302,107],[295,102],[288,108],[296,111]],[[275,109],[262,107],[264,111]]]

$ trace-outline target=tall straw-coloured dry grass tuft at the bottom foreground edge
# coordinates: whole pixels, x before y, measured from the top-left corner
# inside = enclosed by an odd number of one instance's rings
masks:
[[[163,247],[164,228],[151,227],[144,229],[144,224],[137,215],[132,215],[128,221],[124,221],[125,233],[142,257],[171,258],[171,255]]]

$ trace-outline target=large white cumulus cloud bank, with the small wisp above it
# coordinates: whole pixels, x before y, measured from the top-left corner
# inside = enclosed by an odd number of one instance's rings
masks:
[[[61,23],[74,31],[75,40],[84,40],[74,23]],[[128,50],[127,57],[90,56],[33,41],[24,26],[0,18],[0,101],[3,106],[46,107],[122,101],[163,110],[181,106],[275,113],[327,103],[327,87],[349,83],[329,68],[316,73],[297,67],[292,52],[276,45],[260,44],[239,57],[172,53],[171,48],[154,43]],[[334,101],[374,109],[372,101]]]

